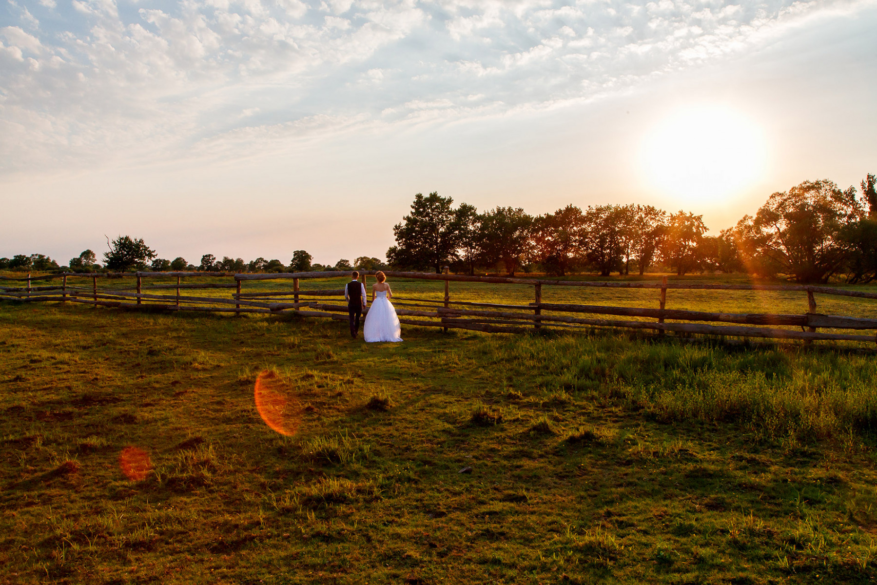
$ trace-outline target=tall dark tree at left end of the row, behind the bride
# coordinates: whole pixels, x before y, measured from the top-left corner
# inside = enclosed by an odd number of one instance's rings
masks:
[[[387,260],[399,268],[433,268],[440,273],[456,258],[460,245],[457,219],[451,197],[417,193],[411,212],[393,227],[396,246],[387,251]]]

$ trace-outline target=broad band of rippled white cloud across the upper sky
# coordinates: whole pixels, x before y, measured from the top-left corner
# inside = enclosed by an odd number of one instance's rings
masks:
[[[139,0],[119,11],[40,0],[40,18],[62,13],[53,29],[12,3],[0,172],[252,155],[357,128],[554,108],[866,4]]]

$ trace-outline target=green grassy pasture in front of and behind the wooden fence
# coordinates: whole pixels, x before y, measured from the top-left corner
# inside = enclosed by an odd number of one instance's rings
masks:
[[[667,304],[715,307],[709,294],[671,291]],[[747,294],[722,300],[745,307]],[[452,295],[531,301],[526,286],[455,282]],[[651,306],[657,293],[551,289],[545,302],[561,295]],[[802,294],[759,299],[806,310]],[[844,303],[837,312],[873,314]],[[294,317],[0,303],[0,582],[877,574],[870,350],[403,338],[366,345],[344,323]],[[255,407],[260,372],[289,401],[290,436]],[[143,479],[120,465],[128,447],[148,454]]]

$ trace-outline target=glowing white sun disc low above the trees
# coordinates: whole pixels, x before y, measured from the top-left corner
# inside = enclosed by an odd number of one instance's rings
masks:
[[[662,119],[645,135],[641,169],[651,189],[674,204],[735,196],[765,168],[764,133],[738,111],[689,106]]]

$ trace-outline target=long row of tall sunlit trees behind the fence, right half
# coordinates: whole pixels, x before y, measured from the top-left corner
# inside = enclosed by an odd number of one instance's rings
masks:
[[[755,216],[708,236],[702,216],[652,205],[575,205],[541,216],[522,208],[453,207],[451,197],[418,193],[393,232],[394,268],[450,266],[473,275],[502,268],[567,275],[639,275],[660,263],[677,275],[743,272],[797,282],[851,283],[877,278],[877,193],[874,175],[841,190],[829,180],[805,181],[767,198]]]

